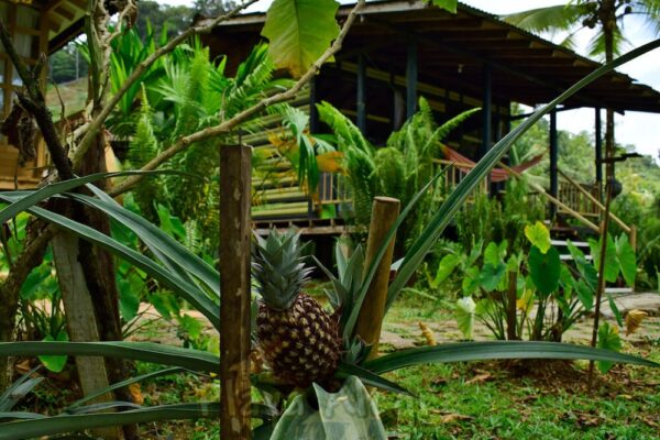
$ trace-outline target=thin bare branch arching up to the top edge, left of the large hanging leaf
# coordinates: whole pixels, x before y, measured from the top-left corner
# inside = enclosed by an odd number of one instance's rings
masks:
[[[127,80],[121,85],[117,94],[114,94],[108,100],[108,102],[106,103],[106,106],[103,106],[98,116],[91,121],[91,123],[87,128],[87,132],[85,133],[82,140],[80,141],[78,146],[69,154],[74,166],[78,165],[80,161],[82,161],[82,157],[85,157],[85,153],[87,153],[87,150],[89,150],[89,147],[92,144],[95,133],[97,133],[101,129],[103,122],[106,122],[106,119],[108,119],[117,103],[121,100],[122,96],[125,95],[129,88],[131,88],[131,86],[133,86],[133,84],[135,84],[140,79],[142,74],[146,72],[146,69],[148,69],[158,58],[174,51],[180,43],[183,43],[190,36],[211,32],[211,30],[216,25],[231,19],[232,16],[237,15],[239,12],[250,7],[251,4],[256,3],[257,1],[260,0],[244,0],[240,6],[238,6],[237,8],[223,15],[217,16],[213,21],[211,21],[211,23],[209,23],[206,26],[188,28],[185,32],[172,38],[166,45],[160,47],[145,61],[140,63],[138,67],[135,67],[135,69],[127,78]]]

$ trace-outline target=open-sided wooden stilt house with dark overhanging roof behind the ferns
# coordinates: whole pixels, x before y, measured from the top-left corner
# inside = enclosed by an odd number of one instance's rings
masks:
[[[342,6],[340,18],[350,9],[351,6]],[[227,55],[230,69],[235,67],[262,40],[260,31],[264,21],[264,13],[252,13],[221,23],[206,36],[211,56]],[[298,105],[309,112],[312,132],[322,131],[315,105],[326,100],[351,117],[376,145],[415,113],[419,96],[428,100],[439,121],[481,107],[481,117],[468,120],[448,142],[463,157],[477,161],[510,130],[515,119],[510,114],[512,103],[530,107],[547,103],[598,66],[570,50],[464,4],[459,4],[458,13],[452,14],[422,0],[370,1],[350,30],[336,63],[323,66],[311,84],[309,96],[301,97]],[[596,139],[596,178],[586,183],[591,185],[586,188],[560,179],[557,166],[557,112],[584,107],[594,109]],[[660,112],[660,92],[627,75],[612,73],[551,114],[547,190],[564,201],[563,207],[553,205],[551,211],[578,210],[598,217],[597,199],[603,186],[600,118],[601,109],[605,108],[622,114],[625,111]],[[264,135],[245,141],[257,150],[273,147]],[[458,174],[470,166],[462,165],[454,167]],[[255,179],[256,189],[267,195],[253,211],[255,227],[294,223],[308,233],[338,232],[339,218],[324,219],[321,208],[337,204],[341,190],[336,187],[332,175],[323,178],[328,182],[314,198],[290,179],[285,183]],[[597,219],[593,221],[597,223]]]

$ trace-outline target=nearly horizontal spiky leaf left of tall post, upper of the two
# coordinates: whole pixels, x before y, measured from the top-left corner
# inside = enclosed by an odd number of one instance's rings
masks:
[[[152,342],[0,342],[0,358],[36,355],[119,358],[205,373],[220,371],[220,358],[215,354]]]

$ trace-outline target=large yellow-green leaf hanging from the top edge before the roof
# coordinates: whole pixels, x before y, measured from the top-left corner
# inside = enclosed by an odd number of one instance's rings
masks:
[[[275,0],[262,35],[275,65],[300,77],[339,35],[334,0]]]

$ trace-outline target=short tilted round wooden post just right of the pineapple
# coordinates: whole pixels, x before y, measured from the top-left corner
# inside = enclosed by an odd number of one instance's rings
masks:
[[[385,240],[385,235],[396,222],[400,205],[400,201],[391,197],[376,197],[374,199],[366,241],[365,267],[369,267],[371,262],[374,261],[381,244]],[[392,258],[394,256],[394,241],[395,238],[392,238],[387,251],[383,260],[381,260],[381,264],[378,264],[374,279],[372,279],[369,286],[355,327],[355,334],[360,334],[366,343],[373,345],[370,359],[375,358],[378,353],[381,326],[383,323],[383,315],[385,314],[387,287],[389,285],[389,267],[392,266]]]

